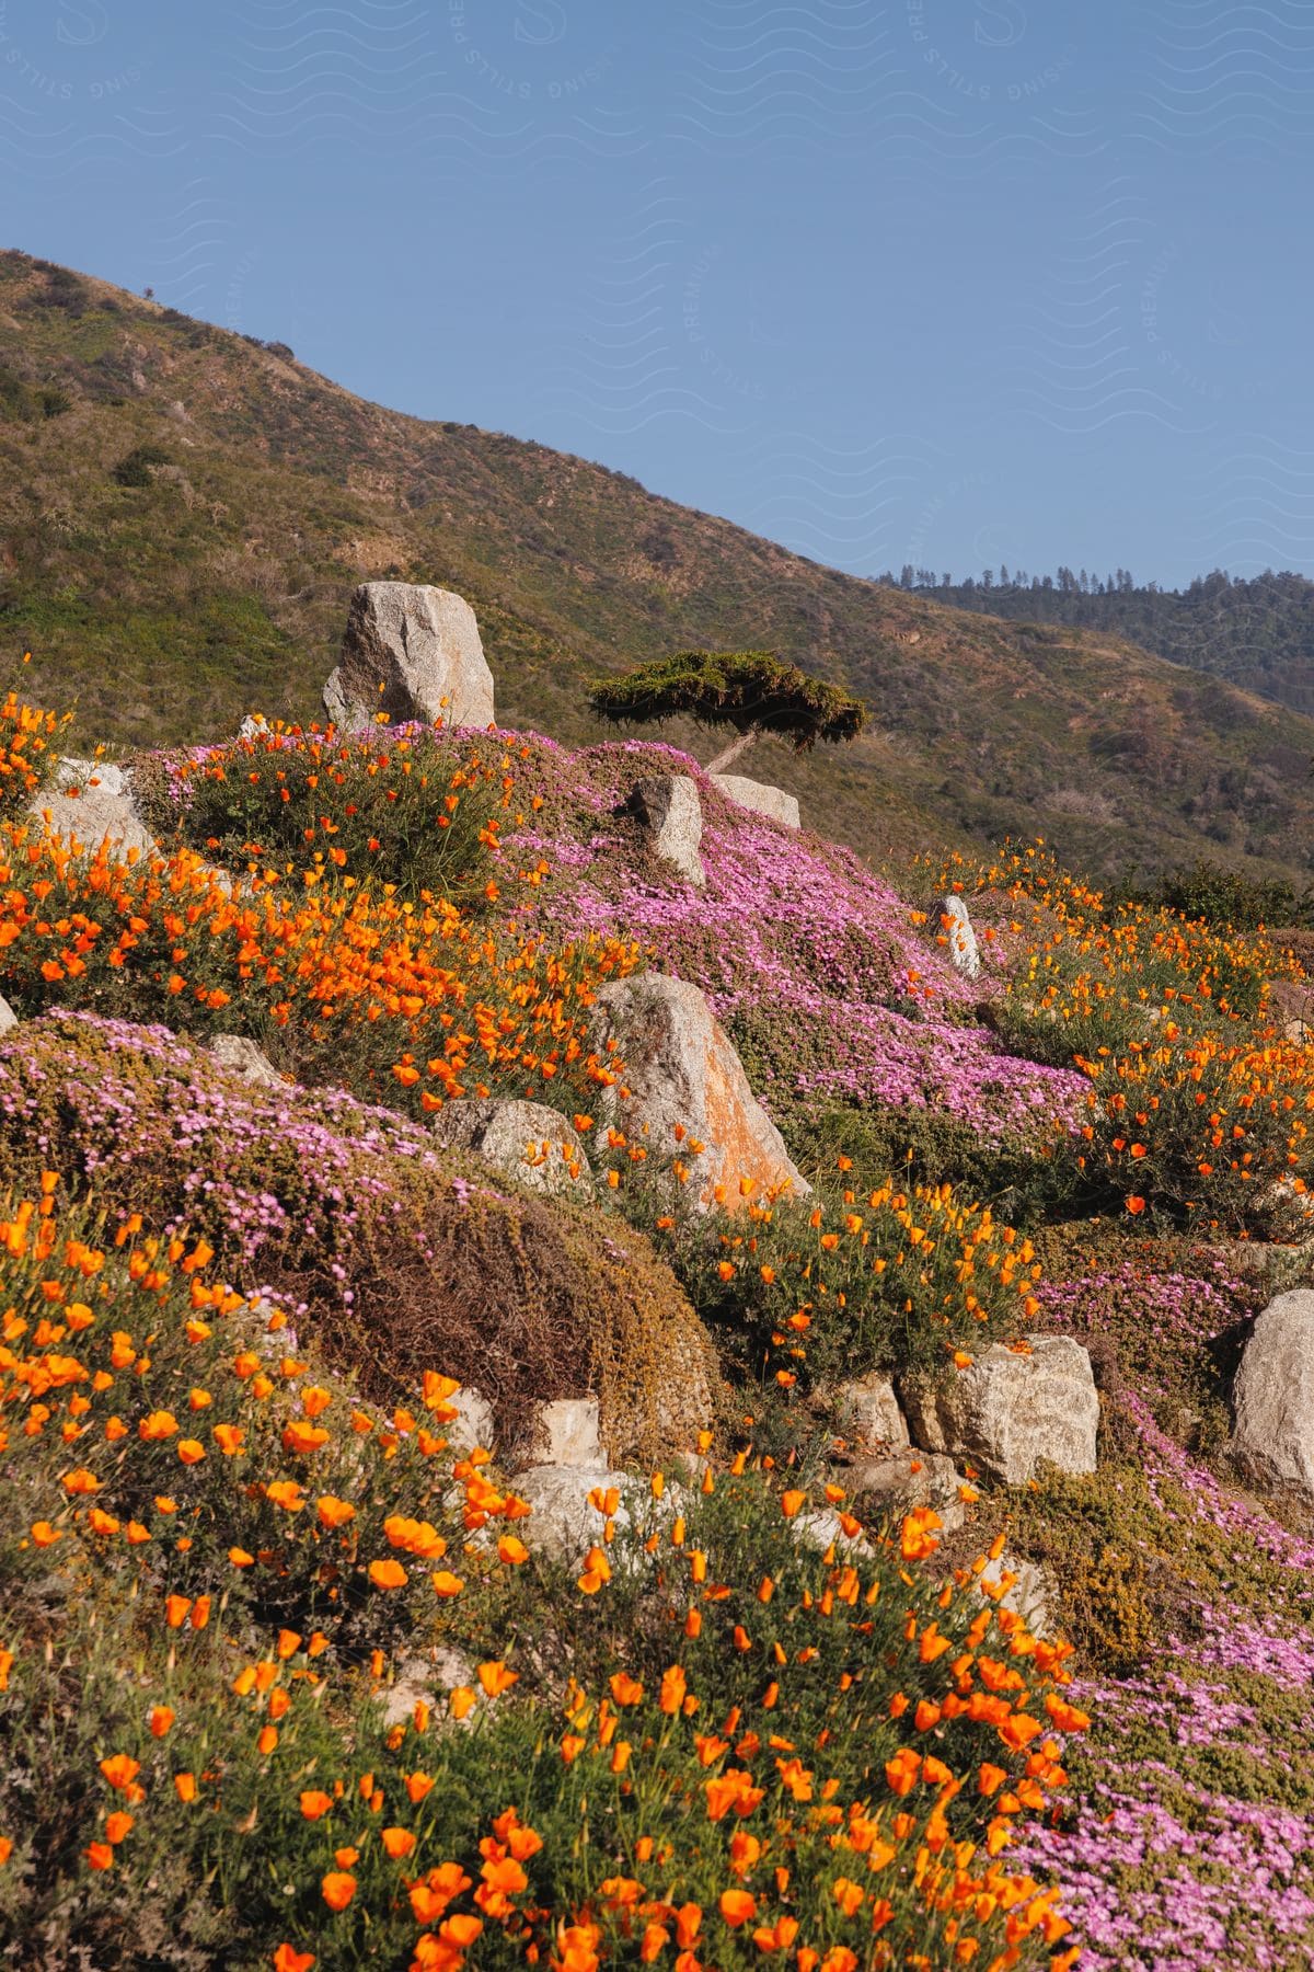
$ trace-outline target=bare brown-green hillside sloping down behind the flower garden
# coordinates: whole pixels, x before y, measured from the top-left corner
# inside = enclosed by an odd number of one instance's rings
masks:
[[[875,708],[764,747],[869,856],[1044,834],[1101,876],[1223,856],[1308,881],[1314,720],[1111,635],[1005,623],[788,554],[544,446],[366,404],[282,345],[0,254],[0,649],[83,741],[317,714],[351,586],[465,594],[508,722],[597,738],[581,682],[778,647]],[[690,743],[674,728],[666,738]],[[703,745],[703,757],[707,747]]]

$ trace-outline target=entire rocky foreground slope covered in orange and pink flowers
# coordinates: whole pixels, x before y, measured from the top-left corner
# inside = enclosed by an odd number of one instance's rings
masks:
[[[59,741],[0,704],[0,1964],[1314,1962],[1290,951],[1028,848],[967,974],[666,745]]]

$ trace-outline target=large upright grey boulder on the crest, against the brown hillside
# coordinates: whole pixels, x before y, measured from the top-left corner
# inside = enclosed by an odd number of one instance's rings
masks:
[[[351,598],[337,670],[323,688],[335,726],[493,726],[493,672],[463,596],[414,582],[362,582]]]

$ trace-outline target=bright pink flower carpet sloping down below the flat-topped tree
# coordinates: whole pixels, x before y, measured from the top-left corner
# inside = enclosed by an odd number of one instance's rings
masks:
[[[695,980],[723,1021],[768,1018],[796,1037],[798,1067],[782,1094],[946,1110],[987,1138],[1084,1118],[1082,1077],[1003,1053],[973,1020],[989,976],[961,978],[926,915],[851,850],[735,807],[674,747],[621,741],[565,753],[540,736],[528,743],[526,779],[550,793],[516,846],[558,874],[558,923],[624,927],[660,964]],[[636,854],[624,801],[652,773],[697,779],[703,889]],[[770,1106],[772,1089],[758,1094]]]

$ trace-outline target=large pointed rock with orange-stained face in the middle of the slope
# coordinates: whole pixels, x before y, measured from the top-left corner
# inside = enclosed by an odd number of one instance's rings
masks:
[[[660,972],[613,980],[597,996],[591,1039],[599,1053],[615,1041],[624,1063],[599,1100],[599,1152],[609,1126],[658,1154],[680,1150],[703,1203],[725,1187],[731,1209],[741,1177],[758,1193],[810,1189],[697,986]]]

